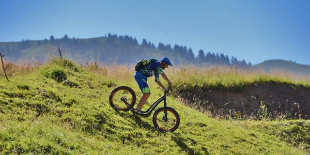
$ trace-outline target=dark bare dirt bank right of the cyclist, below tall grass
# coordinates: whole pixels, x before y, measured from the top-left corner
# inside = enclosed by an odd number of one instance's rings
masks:
[[[266,84],[249,86],[241,92],[198,89],[186,95],[189,101],[197,98],[209,105],[213,104],[217,109],[235,109],[252,113],[261,109],[263,104],[270,113],[288,113],[291,118],[310,119],[310,89],[304,87]]]

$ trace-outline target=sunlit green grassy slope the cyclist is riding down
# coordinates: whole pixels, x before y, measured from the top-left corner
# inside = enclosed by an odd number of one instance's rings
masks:
[[[56,71],[63,71],[69,83],[47,78],[47,73]],[[155,82],[149,84],[152,95],[145,107],[163,93]],[[126,66],[80,67],[70,61],[53,60],[31,73],[11,76],[10,82],[1,78],[0,154],[310,153],[309,121],[218,120],[171,96],[167,98],[168,106],[178,111],[180,126],[173,133],[158,132],[151,117],[110,108],[109,93],[120,85],[133,88],[140,96]]]

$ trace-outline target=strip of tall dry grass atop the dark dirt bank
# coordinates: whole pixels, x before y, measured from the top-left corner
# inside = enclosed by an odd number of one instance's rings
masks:
[[[172,74],[169,74],[171,72]],[[211,86],[230,88],[256,82],[298,83],[309,86],[310,77],[283,70],[265,72],[255,68],[237,68],[232,66],[179,66],[168,72],[175,81],[192,86]]]

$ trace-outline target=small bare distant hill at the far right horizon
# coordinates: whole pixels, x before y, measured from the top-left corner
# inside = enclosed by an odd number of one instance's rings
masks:
[[[301,74],[309,74],[310,75],[310,65],[300,64],[292,61],[285,61],[285,60],[268,60],[262,63],[254,65],[254,67],[262,68],[266,71],[273,70],[273,69],[281,69],[286,70],[294,73],[301,73]]]

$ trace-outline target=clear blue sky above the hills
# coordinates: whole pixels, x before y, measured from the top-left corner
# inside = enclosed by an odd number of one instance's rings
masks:
[[[310,0],[0,0],[0,42],[104,36],[310,64]]]

